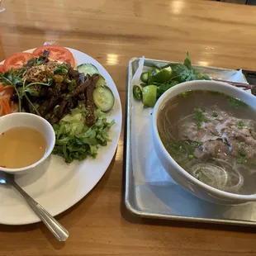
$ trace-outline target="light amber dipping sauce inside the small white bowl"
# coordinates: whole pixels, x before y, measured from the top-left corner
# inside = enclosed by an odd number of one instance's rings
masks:
[[[45,137],[30,127],[18,127],[0,134],[0,166],[22,168],[40,160],[47,147]]]

